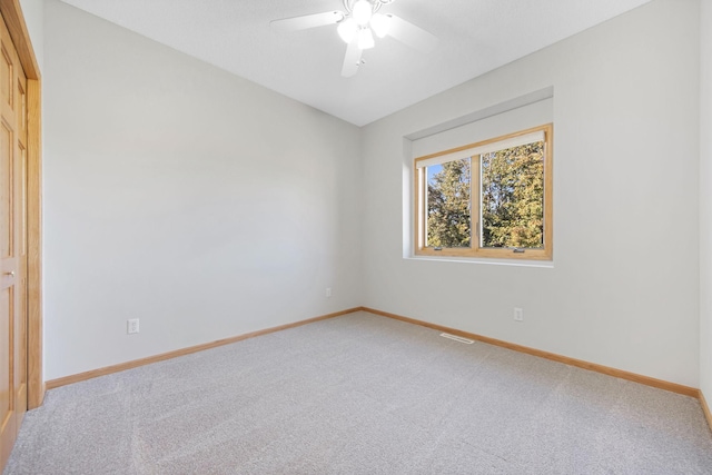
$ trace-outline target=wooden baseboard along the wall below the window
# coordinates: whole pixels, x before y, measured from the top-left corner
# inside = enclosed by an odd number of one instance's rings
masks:
[[[442,325],[435,325],[435,324],[431,324],[428,321],[416,320],[414,318],[408,318],[408,317],[404,317],[404,316],[400,316],[400,315],[390,314],[390,313],[387,313],[387,311],[376,310],[376,309],[368,308],[368,307],[362,307],[359,309],[363,310],[363,311],[368,311],[369,314],[380,315],[383,317],[388,317],[388,318],[393,318],[393,319],[400,320],[400,321],[407,321],[409,324],[419,325],[419,326],[423,326],[423,327],[436,329],[438,331],[445,331],[445,333],[448,333],[448,334],[452,334],[452,335],[457,335],[457,336],[462,336],[462,337],[465,337],[465,338],[475,339],[477,342],[487,343],[490,345],[495,345],[495,346],[501,346],[503,348],[513,349],[515,352],[526,353],[527,355],[538,356],[540,358],[546,358],[546,359],[551,359],[551,360],[554,360],[554,362],[563,363],[565,365],[575,366],[575,367],[578,367],[578,368],[589,369],[589,370],[596,372],[596,373],[602,373],[602,374],[609,375],[609,376],[614,376],[616,378],[632,380],[632,382],[635,382],[635,383],[644,384],[646,386],[656,387],[659,389],[665,389],[665,390],[670,390],[672,393],[683,394],[685,396],[691,396],[691,397],[695,397],[695,398],[699,398],[700,395],[701,395],[700,389],[694,388],[694,387],[683,386],[681,384],[670,383],[670,382],[662,380],[662,379],[655,379],[655,378],[652,378],[652,377],[649,377],[649,376],[643,376],[643,375],[639,375],[639,374],[635,374],[635,373],[624,372],[622,369],[615,369],[615,368],[611,368],[611,367],[607,367],[607,366],[596,365],[595,363],[583,362],[581,359],[574,359],[574,358],[570,358],[567,356],[556,355],[555,353],[543,352],[541,349],[530,348],[530,347],[522,346],[522,345],[515,345],[513,343],[503,342],[501,339],[490,338],[490,337],[486,337],[486,336],[476,335],[476,334],[472,334],[472,333],[468,333],[468,331],[463,331],[463,330],[458,330],[458,329],[455,329],[455,328],[445,327],[445,326],[442,326]],[[708,420],[712,420],[712,419],[710,419],[709,410],[705,413],[705,415],[708,416]]]

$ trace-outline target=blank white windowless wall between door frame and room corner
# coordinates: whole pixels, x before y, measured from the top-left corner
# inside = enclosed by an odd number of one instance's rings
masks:
[[[47,379],[360,305],[356,127],[44,13]]]

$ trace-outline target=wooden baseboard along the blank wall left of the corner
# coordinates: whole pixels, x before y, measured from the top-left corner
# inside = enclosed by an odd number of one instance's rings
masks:
[[[191,353],[202,352],[205,349],[216,348],[222,345],[229,345],[231,343],[241,342],[244,339],[254,338],[260,335],[267,335],[275,331],[286,330],[288,328],[299,327],[301,325],[312,324],[314,321],[326,320],[342,315],[353,314],[354,311],[360,311],[363,307],[349,308],[347,310],[336,311],[334,314],[322,315],[320,317],[308,318],[306,320],[295,321],[293,324],[280,325],[277,327],[265,328],[257,331],[251,331],[244,335],[234,336],[230,338],[218,339],[210,343],[204,343],[201,345],[190,346],[188,348],[177,349],[175,352],[162,353],[160,355],[154,355],[141,359],[134,359],[131,362],[119,363],[118,365],[111,365],[103,368],[91,369],[89,372],[79,373],[76,375],[65,376],[57,379],[50,379],[44,383],[46,388],[53,389],[56,387],[66,386],[68,384],[79,383],[82,380],[96,378],[99,376],[106,376],[113,373],[123,372],[126,369],[137,368],[144,365],[150,365],[151,363],[162,362],[165,359],[177,358],[179,356],[190,355]]]

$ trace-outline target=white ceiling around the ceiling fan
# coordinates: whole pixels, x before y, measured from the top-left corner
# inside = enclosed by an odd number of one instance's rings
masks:
[[[271,20],[342,0],[62,0],[243,78],[364,126],[650,0],[395,0],[382,8],[435,34],[422,53],[376,39],[340,76],[336,26],[280,32]]]

